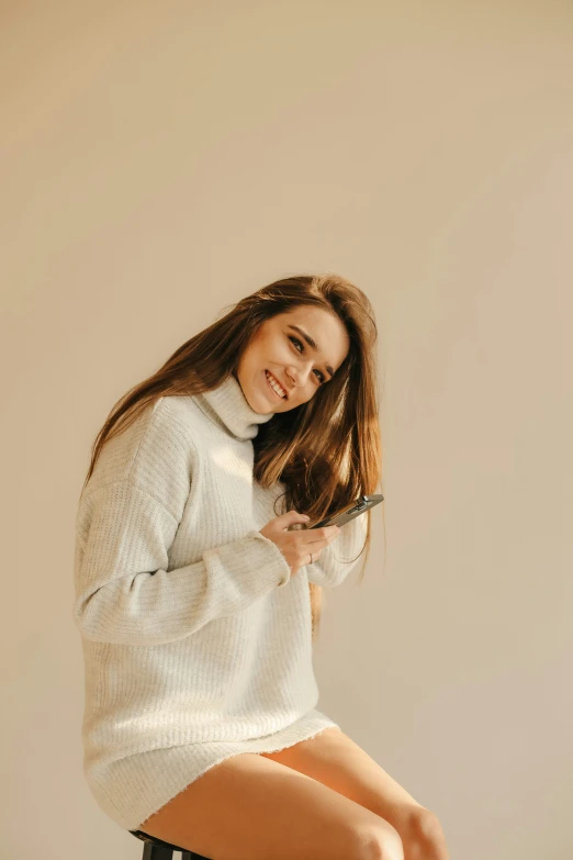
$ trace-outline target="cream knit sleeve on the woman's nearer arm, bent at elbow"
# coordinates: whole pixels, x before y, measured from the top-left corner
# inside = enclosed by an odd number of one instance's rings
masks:
[[[74,621],[93,641],[182,639],[285,585],[291,576],[277,545],[256,530],[168,570],[178,522],[130,479],[92,490],[77,526]]]

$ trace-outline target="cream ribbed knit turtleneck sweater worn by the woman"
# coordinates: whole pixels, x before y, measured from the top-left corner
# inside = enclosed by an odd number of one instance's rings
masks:
[[[285,488],[252,477],[252,439],[272,414],[254,412],[233,376],[160,398],[103,446],[81,493],[83,770],[127,829],[231,755],[337,725],[315,708],[308,582],[346,579],[366,517],[291,576],[259,532],[284,512],[273,503]]]

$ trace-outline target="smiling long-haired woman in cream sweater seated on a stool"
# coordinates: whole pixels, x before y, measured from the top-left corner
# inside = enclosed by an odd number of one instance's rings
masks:
[[[115,404],[77,515],[85,774],[98,804],[209,858],[447,860],[439,823],[316,710],[321,588],[381,474],[367,297],[276,281]],[[278,511],[278,505],[282,510]]]

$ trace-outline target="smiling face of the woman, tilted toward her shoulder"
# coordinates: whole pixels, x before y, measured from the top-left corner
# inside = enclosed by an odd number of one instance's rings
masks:
[[[255,412],[288,412],[328,384],[349,347],[348,332],[338,316],[322,308],[299,305],[261,324],[241,356],[236,376]],[[277,383],[280,393],[272,388],[278,388]]]

